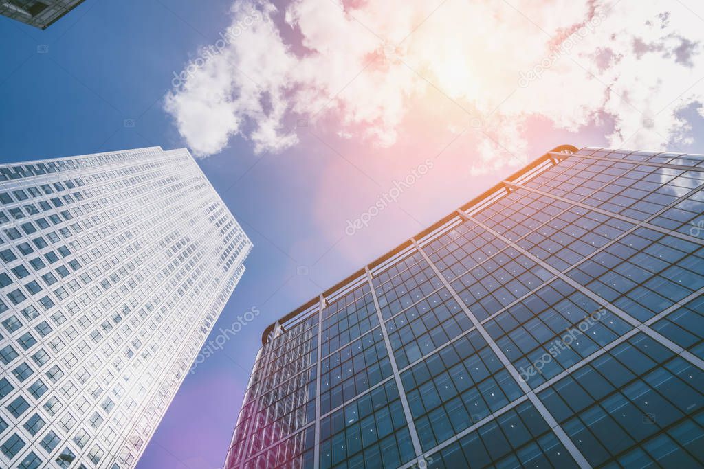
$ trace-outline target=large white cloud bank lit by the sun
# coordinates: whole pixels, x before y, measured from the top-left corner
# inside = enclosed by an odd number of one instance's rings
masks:
[[[704,21],[679,2],[261,0],[232,14],[237,37],[165,100],[198,155],[234,136],[284,150],[296,120],[323,116],[339,136],[392,146],[434,94],[481,117],[470,167],[486,172],[525,162],[530,117],[577,131],[608,115],[612,146],[657,149],[691,139],[678,112],[704,103]]]

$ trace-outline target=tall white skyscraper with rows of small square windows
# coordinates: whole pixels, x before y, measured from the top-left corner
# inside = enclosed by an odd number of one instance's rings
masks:
[[[0,467],[133,468],[250,249],[185,149],[0,166]]]

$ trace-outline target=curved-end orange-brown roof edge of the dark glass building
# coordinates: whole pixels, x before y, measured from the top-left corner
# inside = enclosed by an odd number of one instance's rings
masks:
[[[466,211],[470,209],[470,207],[474,205],[479,205],[484,199],[489,198],[491,195],[494,195],[497,191],[500,191],[503,188],[503,181],[516,181],[517,179],[520,179],[521,176],[524,174],[531,172],[533,169],[541,165],[543,162],[546,162],[548,160],[554,160],[554,155],[553,153],[564,153],[564,152],[570,152],[570,153],[576,153],[579,150],[579,148],[572,146],[572,145],[560,145],[552,150],[548,151],[547,153],[543,154],[540,158],[537,158],[533,162],[530,162],[528,165],[522,167],[519,169],[517,172],[511,174],[505,179],[502,179],[501,182],[498,184],[495,184],[494,186],[491,186],[491,188],[487,189],[486,191],[482,192],[481,194],[477,195],[477,197],[473,198],[469,202],[467,202],[465,205],[460,207],[459,210]],[[536,176],[537,174],[533,175]],[[457,217],[457,210],[453,210],[449,214],[447,214],[445,217],[439,219],[436,221],[434,224],[431,226],[428,226],[426,229],[421,231],[420,233],[417,233],[417,235],[413,236],[415,239],[423,238],[424,236],[428,235],[429,233],[432,233],[436,229],[439,229],[441,226],[444,224],[448,223],[448,221],[451,221],[455,217]],[[379,264],[383,264],[386,260],[390,259],[391,257],[394,257],[397,255],[399,252],[405,250],[409,246],[413,245],[411,242],[410,238],[400,245],[396,246],[396,248],[390,250],[389,252],[386,252],[386,254],[382,255],[381,257],[377,257],[377,259],[373,260],[366,266],[364,266],[362,269],[359,269],[358,271],[354,272],[351,276],[348,276],[344,278],[344,280],[339,281],[335,285],[332,285],[332,287],[328,288],[322,293],[322,297],[327,297],[328,295],[331,295],[332,293],[336,292],[340,288],[342,288],[346,283],[350,283],[351,281],[354,281],[356,278],[359,276],[362,276],[365,274],[366,269],[372,269]],[[310,301],[306,302],[305,304],[302,304],[300,307],[294,309],[291,311],[289,314],[286,314],[285,316],[280,317],[277,321],[274,323],[271,323],[269,326],[267,326],[264,329],[264,332],[262,333],[262,345],[266,345],[268,343],[268,337],[270,333],[276,328],[277,324],[283,324],[288,321],[291,321],[291,319],[296,318],[299,314],[303,313],[307,309],[313,307],[316,303],[320,302],[320,295],[313,297]]]

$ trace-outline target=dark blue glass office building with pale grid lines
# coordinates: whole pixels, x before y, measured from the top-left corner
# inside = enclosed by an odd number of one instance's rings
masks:
[[[265,330],[225,468],[702,467],[703,184],[546,153]]]

